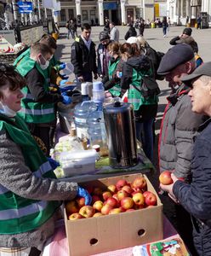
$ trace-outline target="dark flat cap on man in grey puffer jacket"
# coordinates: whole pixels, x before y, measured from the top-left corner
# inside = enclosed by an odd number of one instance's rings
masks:
[[[186,61],[191,61],[194,57],[194,52],[188,44],[177,44],[163,56],[157,73],[165,75],[170,73],[175,67],[180,66]]]

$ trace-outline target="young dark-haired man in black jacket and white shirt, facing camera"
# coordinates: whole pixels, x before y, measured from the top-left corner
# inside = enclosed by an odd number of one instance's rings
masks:
[[[82,34],[75,39],[71,45],[71,63],[74,66],[74,73],[81,82],[92,82],[97,79],[95,44],[90,39],[91,26],[84,23]]]

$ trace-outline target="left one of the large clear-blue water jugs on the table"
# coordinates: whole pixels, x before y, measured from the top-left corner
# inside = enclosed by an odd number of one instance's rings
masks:
[[[74,109],[74,120],[77,129],[77,137],[88,138],[88,115],[95,111],[97,106],[94,102],[81,102]]]

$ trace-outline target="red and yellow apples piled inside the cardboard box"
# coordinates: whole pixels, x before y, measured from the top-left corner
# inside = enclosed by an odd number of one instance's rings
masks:
[[[157,206],[157,195],[147,190],[145,177],[135,177],[132,183],[120,178],[106,189],[91,186],[87,189],[92,195],[91,206],[85,206],[83,197],[67,202],[68,219],[100,217]]]

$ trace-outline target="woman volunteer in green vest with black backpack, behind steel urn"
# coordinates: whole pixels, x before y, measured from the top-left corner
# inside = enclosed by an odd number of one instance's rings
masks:
[[[134,106],[136,137],[142,142],[145,155],[153,160],[152,125],[157,115],[157,96],[145,98],[140,93],[141,78],[151,75],[151,65],[145,55],[140,55],[137,44],[121,46],[123,60],[122,89],[128,90],[128,102]],[[123,92],[122,92],[123,95]]]

